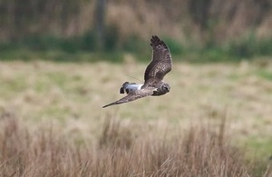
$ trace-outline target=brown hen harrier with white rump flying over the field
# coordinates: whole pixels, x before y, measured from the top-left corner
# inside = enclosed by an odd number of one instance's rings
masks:
[[[172,69],[170,49],[157,35],[151,38],[152,61],[145,70],[144,84],[125,82],[120,93],[128,93],[120,100],[104,105],[103,108],[120,103],[128,103],[145,96],[160,96],[170,92],[170,85],[162,81]]]

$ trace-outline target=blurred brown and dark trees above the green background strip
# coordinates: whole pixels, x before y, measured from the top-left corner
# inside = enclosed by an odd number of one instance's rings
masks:
[[[102,49],[156,33],[217,45],[257,33],[267,38],[271,9],[271,0],[0,0],[0,42],[79,36],[80,47]]]

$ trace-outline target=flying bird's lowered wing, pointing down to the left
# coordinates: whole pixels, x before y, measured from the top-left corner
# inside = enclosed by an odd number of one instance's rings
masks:
[[[153,91],[155,91],[155,90],[157,90],[157,89],[154,87],[147,87],[145,89],[131,91],[128,95],[121,98],[120,100],[104,105],[103,108],[108,107],[110,105],[114,105],[114,104],[132,102],[132,101],[137,100],[139,98],[143,98],[145,96],[151,95],[153,93]]]

